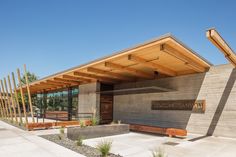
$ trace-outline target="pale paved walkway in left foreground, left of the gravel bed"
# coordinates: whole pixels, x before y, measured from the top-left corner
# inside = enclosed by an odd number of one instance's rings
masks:
[[[84,157],[0,121],[0,157]]]

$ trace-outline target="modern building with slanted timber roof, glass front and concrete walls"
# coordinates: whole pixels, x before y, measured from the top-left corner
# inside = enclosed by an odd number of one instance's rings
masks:
[[[235,79],[233,64],[212,65],[167,34],[35,81],[30,90],[41,113],[64,111],[69,120],[96,114],[102,123],[236,137]]]

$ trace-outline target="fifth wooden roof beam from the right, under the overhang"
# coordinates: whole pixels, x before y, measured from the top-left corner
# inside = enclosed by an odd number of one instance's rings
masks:
[[[108,83],[115,83],[116,82],[114,79],[111,79],[109,77],[99,76],[99,75],[95,75],[95,74],[87,74],[87,73],[82,73],[82,72],[74,72],[73,74],[75,76],[82,76],[82,77],[96,79],[101,82],[108,82]]]

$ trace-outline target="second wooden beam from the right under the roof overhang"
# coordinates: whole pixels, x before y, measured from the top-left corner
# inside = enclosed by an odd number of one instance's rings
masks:
[[[149,62],[148,60],[142,58],[142,57],[138,57],[138,56],[134,56],[134,55],[129,55],[128,56],[128,60],[137,62],[139,64],[142,64],[144,66],[147,66],[149,68],[152,68],[160,73],[166,74],[168,76],[176,76],[177,73],[167,67],[164,67],[160,64],[157,63],[153,63],[153,62]]]

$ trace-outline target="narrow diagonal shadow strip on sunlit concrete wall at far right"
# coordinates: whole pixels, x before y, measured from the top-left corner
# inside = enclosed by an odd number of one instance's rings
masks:
[[[219,122],[221,114],[224,110],[226,102],[227,102],[227,100],[229,98],[229,95],[231,93],[231,90],[234,86],[235,80],[236,80],[236,69],[233,69],[232,72],[230,73],[229,79],[228,79],[227,84],[225,86],[224,92],[223,92],[223,94],[220,98],[219,104],[217,105],[214,116],[211,120],[210,126],[209,126],[208,131],[207,131],[207,135],[213,135],[214,134],[216,126]]]

